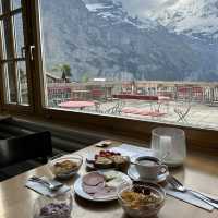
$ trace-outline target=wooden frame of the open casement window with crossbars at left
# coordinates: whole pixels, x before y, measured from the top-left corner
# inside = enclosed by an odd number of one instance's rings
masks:
[[[0,21],[3,21],[3,19],[5,17],[13,17],[16,14],[22,14],[22,21],[23,21],[23,34],[24,34],[24,43],[25,43],[25,47],[28,48],[31,44],[31,39],[29,39],[29,35],[27,29],[29,28],[29,22],[28,22],[28,16],[31,11],[27,10],[27,5],[26,5],[26,0],[21,0],[22,7],[17,8],[17,9],[11,9],[9,11],[5,11],[4,13],[2,13],[0,15]],[[9,3],[10,4],[10,3]],[[11,4],[10,4],[11,5]],[[13,32],[13,24],[12,24],[12,19],[10,20],[11,25],[10,25],[10,31]],[[0,111],[9,111],[9,112],[14,112],[14,113],[24,113],[24,114],[28,114],[28,113],[33,113],[34,112],[34,100],[33,100],[33,94],[32,94],[32,84],[33,84],[33,80],[32,80],[32,70],[31,70],[31,59],[29,59],[29,50],[25,49],[25,58],[19,58],[16,57],[16,51],[15,51],[15,38],[14,38],[14,32],[10,34],[11,38],[11,47],[12,47],[12,55],[13,58],[3,58],[3,48],[0,47]],[[0,40],[3,41],[3,38],[0,36]],[[24,61],[26,64],[26,77],[27,77],[27,95],[28,95],[28,105],[22,105],[19,102],[19,87],[17,86],[17,63]],[[5,63],[10,63],[13,62],[14,63],[14,84],[15,84],[15,102],[8,102],[8,90],[5,87],[5,80],[4,80],[4,69],[3,69],[3,64]]]

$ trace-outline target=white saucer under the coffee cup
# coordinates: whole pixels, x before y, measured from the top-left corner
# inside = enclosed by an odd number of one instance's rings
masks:
[[[138,182],[155,182],[155,183],[160,183],[160,182],[164,182],[167,177],[169,175],[169,171],[166,171],[165,173],[162,174],[159,174],[157,177],[157,179],[153,180],[153,179],[144,179],[144,178],[141,178],[135,166],[134,165],[131,165],[129,170],[128,170],[128,175],[134,180],[134,181],[138,181]]]

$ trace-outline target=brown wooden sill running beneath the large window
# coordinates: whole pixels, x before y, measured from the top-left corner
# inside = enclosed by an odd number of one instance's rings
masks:
[[[8,114],[8,113],[4,113]],[[193,126],[172,125],[169,123],[146,122],[133,119],[87,114],[81,112],[45,111],[43,116],[14,114],[14,119],[60,129],[60,131],[78,131],[102,138],[111,138],[138,145],[149,144],[150,132],[156,126],[181,128],[186,134],[190,150],[209,154],[217,153],[218,134],[215,130],[197,129]]]

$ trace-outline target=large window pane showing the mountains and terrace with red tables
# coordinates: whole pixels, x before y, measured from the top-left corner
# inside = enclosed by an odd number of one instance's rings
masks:
[[[48,107],[218,126],[216,1],[39,2]]]

